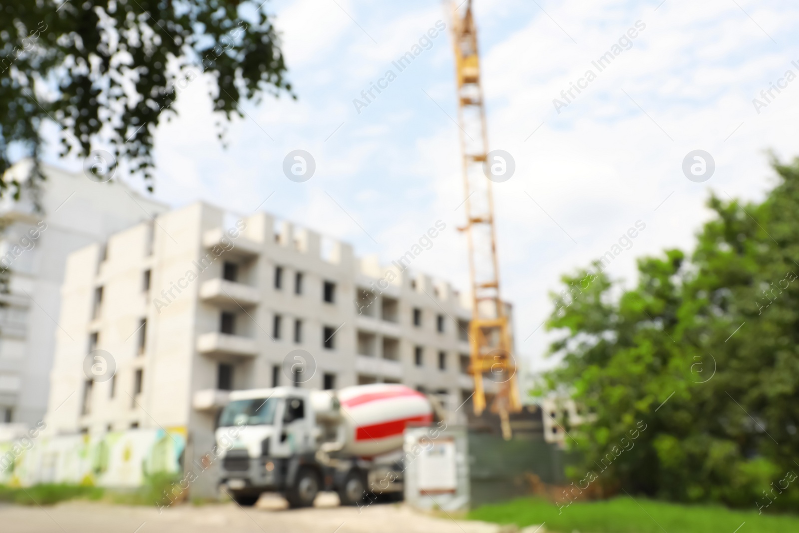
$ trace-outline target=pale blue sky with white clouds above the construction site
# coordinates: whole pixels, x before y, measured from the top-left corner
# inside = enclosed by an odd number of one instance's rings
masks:
[[[474,4],[490,146],[516,163],[511,180],[495,186],[503,293],[515,304],[519,353],[540,369],[551,334],[531,333],[551,312],[547,292],[563,272],[589,264],[642,221],[646,229],[610,268],[632,283],[636,257],[690,249],[710,216],[704,205],[711,190],[760,198],[773,185],[766,151],[799,154],[799,80],[783,79],[768,105],[753,105],[786,71],[799,75],[799,6]],[[465,288],[445,8],[430,0],[268,2],[298,99],[244,105],[247,116],[229,126],[223,149],[207,86],[202,78],[192,82],[177,100],[180,117],[157,133],[155,196],[176,206],[202,199],[249,213],[274,193],[261,209],[351,241],[359,255],[382,261],[399,257],[440,219],[447,229],[416,266]],[[447,31],[359,113],[353,99],[438,21]],[[636,37],[622,40],[629,50],[602,72],[592,66],[636,25]],[[561,91],[586,70],[596,78],[556,110],[553,99],[564,101]],[[281,169],[294,149],[316,160],[316,173],[304,183],[289,181]],[[714,158],[709,181],[682,173],[684,157],[695,149]]]

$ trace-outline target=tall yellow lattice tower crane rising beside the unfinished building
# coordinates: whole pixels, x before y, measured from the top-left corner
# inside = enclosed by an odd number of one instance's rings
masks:
[[[463,4],[465,3],[465,7]],[[471,0],[452,2],[452,37],[455,46],[455,74],[458,97],[460,146],[463,157],[463,193],[466,196],[466,225],[471,275],[472,320],[469,325],[471,360],[469,372],[475,378],[475,415],[486,408],[483,375],[498,383],[491,412],[499,414],[503,437],[511,438],[509,413],[519,412],[519,388],[515,362],[511,355],[508,308],[499,296],[499,264],[494,226],[494,198],[488,179],[488,133],[477,30]]]

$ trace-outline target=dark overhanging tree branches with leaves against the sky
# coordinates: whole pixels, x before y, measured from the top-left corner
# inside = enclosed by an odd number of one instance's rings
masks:
[[[209,74],[213,109],[291,92],[263,0],[0,0],[0,194],[12,154],[38,159],[42,124],[62,154],[110,146],[152,190],[153,133],[177,93]],[[220,137],[222,132],[220,130]],[[113,161],[110,163],[113,165]]]

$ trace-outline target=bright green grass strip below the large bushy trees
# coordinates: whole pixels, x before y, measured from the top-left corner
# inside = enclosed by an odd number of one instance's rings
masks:
[[[638,507],[640,505],[641,507]],[[753,504],[754,507],[754,504]],[[598,502],[572,503],[559,509],[543,499],[515,499],[471,511],[469,519],[515,523],[519,527],[546,523],[547,531],[563,533],[786,533],[799,531],[799,515],[758,515],[712,505],[679,505],[624,496]]]

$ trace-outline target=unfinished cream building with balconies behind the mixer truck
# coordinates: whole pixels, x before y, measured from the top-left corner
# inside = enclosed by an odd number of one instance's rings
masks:
[[[66,261],[48,428],[183,431],[193,461],[234,389],[403,383],[455,412],[470,312],[404,266],[203,203],[113,233]]]

